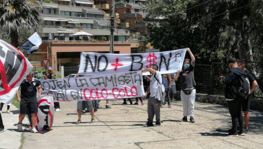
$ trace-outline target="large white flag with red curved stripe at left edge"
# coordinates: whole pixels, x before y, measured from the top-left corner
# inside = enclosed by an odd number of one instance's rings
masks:
[[[10,104],[33,66],[22,52],[0,40],[0,102]]]

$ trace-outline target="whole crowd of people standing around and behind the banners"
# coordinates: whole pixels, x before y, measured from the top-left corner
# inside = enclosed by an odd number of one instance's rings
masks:
[[[183,118],[179,120],[180,122],[188,122],[188,116],[190,117],[189,122],[194,123],[194,105],[195,105],[195,79],[194,79],[194,67],[195,67],[195,57],[189,48],[187,48],[188,53],[191,56],[190,59],[184,59],[183,68],[178,73],[170,74],[161,74],[158,71],[158,65],[152,64],[150,68],[142,68],[142,72],[148,71],[150,75],[144,76],[143,84],[145,87],[145,96],[136,97],[136,102],[133,104],[131,98],[127,98],[130,102],[130,105],[139,105],[139,100],[141,105],[143,104],[142,98],[147,98],[147,112],[148,119],[147,123],[143,126],[153,127],[161,125],[161,114],[160,108],[162,108],[162,100],[160,98],[165,98],[165,101],[168,103],[168,108],[171,108],[171,101],[175,100],[176,87],[175,82],[178,80],[178,77],[181,78],[181,92],[180,97],[183,104]],[[252,73],[246,69],[245,60],[236,60],[235,58],[230,58],[228,60],[228,65],[231,68],[229,74],[226,76],[220,76],[220,81],[226,84],[225,97],[229,108],[229,113],[232,119],[232,128],[229,129],[229,134],[226,136],[238,136],[245,135],[248,133],[248,122],[249,122],[249,106],[250,101],[253,98],[253,91],[257,86],[257,81]],[[45,79],[57,79],[58,75],[53,71],[52,67],[48,68],[47,75],[46,72],[43,72],[43,77]],[[76,77],[83,77],[83,75],[76,74]],[[249,93],[243,96],[239,93],[240,90],[240,77],[247,78],[249,81]],[[165,85],[164,82],[168,82],[167,88],[163,92],[164,97],[157,97],[158,92],[161,91],[161,86]],[[162,84],[162,85],[161,85]],[[244,86],[243,86],[244,87]],[[30,119],[29,127],[31,127],[32,133],[37,133],[35,128],[36,124],[36,114],[37,114],[37,92],[41,96],[41,83],[34,79],[34,72],[30,72],[27,77],[23,80],[20,85],[21,96],[19,96],[19,91],[17,91],[16,96],[17,100],[20,102],[20,114],[18,122],[18,131],[22,131],[22,121],[25,115],[28,115]],[[170,91],[172,90],[172,100],[170,99]],[[123,99],[122,105],[127,105],[126,98]],[[94,101],[77,101],[77,115],[78,121],[76,124],[81,123],[81,115],[83,112],[86,112],[85,109],[91,114],[90,124],[95,122],[94,113],[98,112],[100,100]],[[3,105],[1,103],[1,114]],[[7,113],[9,112],[9,105],[7,106]],[[59,102],[54,102],[54,108],[56,112],[60,111]],[[106,100],[106,109],[110,109],[109,100]],[[243,111],[245,118],[243,117],[241,110]],[[0,115],[1,116],[1,115]],[[153,118],[155,116],[155,124],[153,124]],[[238,127],[239,124],[239,127]],[[0,132],[4,131],[4,125],[0,117]]]

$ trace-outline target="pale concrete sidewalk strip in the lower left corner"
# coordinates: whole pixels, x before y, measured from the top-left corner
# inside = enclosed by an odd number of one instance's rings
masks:
[[[2,111],[2,119],[5,126],[5,131],[0,133],[0,148],[4,149],[17,149],[21,145],[21,134],[17,130],[19,110],[14,106],[10,106],[10,114],[6,113],[7,105],[4,105]],[[23,124],[29,123],[25,117]]]

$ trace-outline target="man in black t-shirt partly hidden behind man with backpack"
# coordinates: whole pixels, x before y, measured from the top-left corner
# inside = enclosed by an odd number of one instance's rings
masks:
[[[244,113],[244,122],[245,122],[245,133],[248,133],[248,122],[249,122],[249,106],[250,106],[250,102],[251,99],[254,96],[254,90],[257,87],[257,81],[255,79],[255,77],[253,76],[253,74],[246,69],[246,61],[243,60],[238,60],[238,67],[240,67],[242,70],[245,71],[245,73],[247,74],[248,80],[249,80],[249,85],[250,85],[250,95],[248,97],[245,98],[245,100],[243,101],[243,105],[242,105],[242,111]]]

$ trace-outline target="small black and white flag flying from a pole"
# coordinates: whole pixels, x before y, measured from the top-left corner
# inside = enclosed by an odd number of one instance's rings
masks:
[[[30,36],[23,44],[19,46],[27,52],[27,55],[30,56],[37,51],[38,47],[42,43],[41,37],[37,32],[35,32],[32,36]]]

